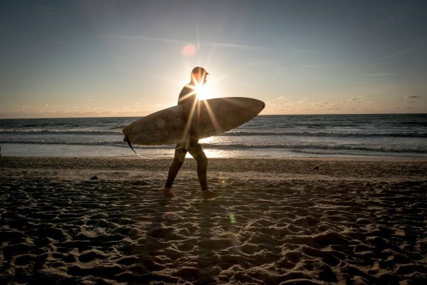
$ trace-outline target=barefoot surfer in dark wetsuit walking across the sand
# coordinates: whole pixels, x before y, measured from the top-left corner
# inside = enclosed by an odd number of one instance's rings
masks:
[[[174,161],[169,169],[166,185],[164,186],[164,197],[174,197],[172,192],[172,184],[178,174],[179,169],[184,163],[184,158],[187,152],[194,157],[197,162],[197,175],[201,186],[201,192],[204,199],[216,197],[216,193],[208,190],[206,183],[206,169],[208,166],[208,159],[201,149],[199,138],[196,137],[193,128],[191,127],[191,118],[193,110],[196,110],[196,103],[198,101],[196,94],[196,86],[206,83],[206,76],[209,73],[204,68],[195,67],[191,71],[191,82],[182,88],[179,93],[178,105],[184,105],[184,123],[189,124],[188,133],[184,134],[187,138],[186,142],[178,143],[175,147]]]

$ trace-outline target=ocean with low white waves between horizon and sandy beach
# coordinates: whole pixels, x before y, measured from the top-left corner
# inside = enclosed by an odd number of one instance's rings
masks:
[[[132,156],[125,118],[0,120],[1,155]],[[200,140],[208,157],[427,157],[427,114],[258,115]],[[144,157],[172,157],[174,145],[135,146]]]

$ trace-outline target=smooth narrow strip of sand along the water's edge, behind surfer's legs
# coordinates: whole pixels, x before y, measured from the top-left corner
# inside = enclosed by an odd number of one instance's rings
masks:
[[[171,158],[144,159],[132,157],[2,157],[1,168],[46,169],[107,169],[107,170],[169,170]],[[353,167],[353,168],[349,168]],[[194,170],[196,161],[186,158],[181,170]],[[354,169],[359,167],[359,170]],[[287,158],[208,158],[208,171],[222,172],[287,172],[305,174],[337,174],[359,176],[388,167],[389,175],[420,175],[427,173],[427,159],[407,157],[287,157]],[[1,169],[0,168],[0,169]],[[380,170],[382,171],[382,170]],[[425,171],[425,172],[423,172]]]

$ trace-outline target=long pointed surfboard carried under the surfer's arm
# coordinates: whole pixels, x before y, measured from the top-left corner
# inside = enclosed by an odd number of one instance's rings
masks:
[[[189,140],[189,130],[196,138],[226,132],[253,119],[264,107],[263,101],[245,97],[198,100],[193,115],[188,105],[176,105],[140,118],[122,132],[128,143],[169,145]]]

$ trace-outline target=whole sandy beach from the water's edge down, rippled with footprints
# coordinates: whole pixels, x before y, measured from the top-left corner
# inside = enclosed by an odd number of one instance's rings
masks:
[[[0,284],[427,284],[426,160],[170,162],[4,157]]]

